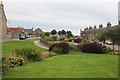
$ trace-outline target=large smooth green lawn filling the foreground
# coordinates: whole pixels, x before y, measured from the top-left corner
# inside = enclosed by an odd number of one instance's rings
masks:
[[[71,51],[14,68],[4,78],[117,78],[118,56]]]

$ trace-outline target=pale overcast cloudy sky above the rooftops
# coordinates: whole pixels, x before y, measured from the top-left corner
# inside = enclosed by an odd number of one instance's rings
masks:
[[[43,31],[80,29],[118,24],[119,0],[3,0],[8,27],[32,27]]]

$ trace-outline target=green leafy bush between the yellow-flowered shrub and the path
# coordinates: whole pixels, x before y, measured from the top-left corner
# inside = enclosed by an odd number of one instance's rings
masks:
[[[39,50],[30,47],[18,48],[14,51],[17,56],[23,56],[29,61],[39,61],[41,59]]]

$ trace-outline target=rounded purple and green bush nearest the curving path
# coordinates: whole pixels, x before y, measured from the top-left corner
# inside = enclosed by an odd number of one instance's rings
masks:
[[[50,45],[49,51],[53,51],[60,54],[66,54],[69,52],[69,44],[66,42],[54,43]]]

